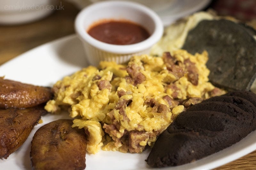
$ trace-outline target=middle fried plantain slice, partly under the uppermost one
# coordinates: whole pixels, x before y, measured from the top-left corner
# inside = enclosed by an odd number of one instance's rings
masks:
[[[0,109],[0,158],[7,159],[19,149],[45,113],[43,107]]]

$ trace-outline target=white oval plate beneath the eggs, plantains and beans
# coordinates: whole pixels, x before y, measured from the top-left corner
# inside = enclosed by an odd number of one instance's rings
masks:
[[[52,86],[64,76],[86,67],[83,47],[76,37],[70,35],[50,43],[38,46],[0,66],[0,76],[6,79],[31,83],[41,86]],[[26,142],[19,150],[12,153],[8,159],[0,159],[1,169],[31,169],[30,147],[31,140],[36,130],[42,125],[60,118],[68,118],[68,113],[61,115],[45,115],[42,117],[43,124],[38,124],[32,130]],[[63,148],[65,149],[65,148]],[[230,161],[238,159],[256,149],[256,131],[250,133],[240,142],[212,154],[204,159],[176,167],[161,169],[184,170],[184,169],[212,169]],[[147,166],[150,150],[143,153],[121,153],[111,151],[100,151],[97,154],[86,155],[86,169],[152,169]]]

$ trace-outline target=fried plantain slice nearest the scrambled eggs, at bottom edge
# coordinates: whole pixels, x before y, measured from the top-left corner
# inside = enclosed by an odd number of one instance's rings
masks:
[[[34,169],[84,169],[86,140],[72,120],[60,119],[40,127],[31,142]]]

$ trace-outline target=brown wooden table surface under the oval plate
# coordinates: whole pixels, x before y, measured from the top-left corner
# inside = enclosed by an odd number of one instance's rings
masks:
[[[62,1],[64,10],[54,11],[50,16],[25,25],[0,25],[0,65],[36,46],[74,33],[74,19],[79,10]],[[256,151],[216,168],[256,169]]]

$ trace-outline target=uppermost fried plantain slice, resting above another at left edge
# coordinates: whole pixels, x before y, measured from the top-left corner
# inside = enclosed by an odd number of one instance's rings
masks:
[[[25,84],[0,77],[0,108],[28,108],[45,103],[52,98],[48,87]]]

